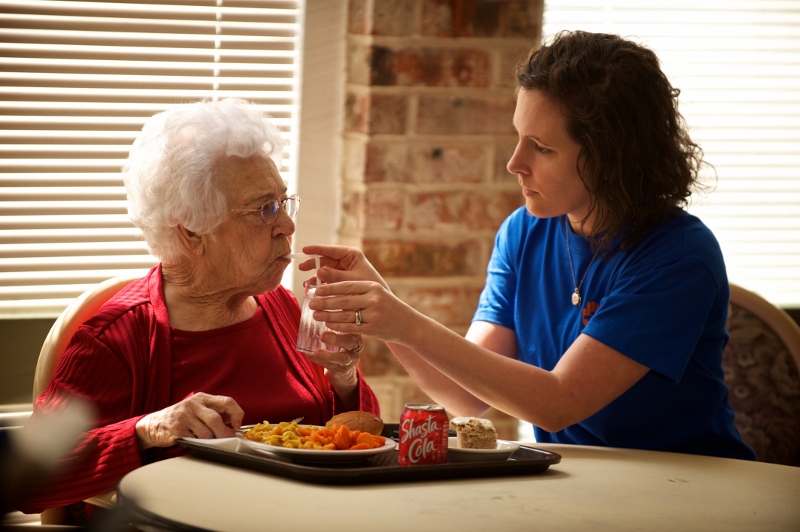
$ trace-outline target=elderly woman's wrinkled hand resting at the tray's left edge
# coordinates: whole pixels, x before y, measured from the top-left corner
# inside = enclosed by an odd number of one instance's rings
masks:
[[[140,419],[136,437],[141,450],[171,447],[178,438],[230,438],[243,418],[244,411],[230,397],[196,393]]]

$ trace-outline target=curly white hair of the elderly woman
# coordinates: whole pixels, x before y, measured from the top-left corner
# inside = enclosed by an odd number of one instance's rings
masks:
[[[216,170],[223,157],[271,157],[281,167],[280,130],[236,98],[180,104],[145,122],[123,168],[128,215],[162,262],[182,247],[175,227],[207,234],[228,216]]]

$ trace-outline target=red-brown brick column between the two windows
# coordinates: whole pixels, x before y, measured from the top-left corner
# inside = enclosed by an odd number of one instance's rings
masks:
[[[406,303],[464,334],[500,223],[522,204],[505,165],[516,60],[542,0],[350,0],[339,241],[362,248]],[[453,353],[458,356],[458,353]],[[381,342],[361,368],[397,422],[429,402]],[[517,420],[488,415],[501,438]]]

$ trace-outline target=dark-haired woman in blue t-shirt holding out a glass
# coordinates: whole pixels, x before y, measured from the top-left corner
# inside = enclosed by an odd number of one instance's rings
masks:
[[[683,207],[702,152],[649,49],[562,33],[517,71],[500,228],[466,339],[394,297],[352,248],[325,256],[315,318],[387,342],[453,415],[490,406],[541,442],[753,459],[728,404],[729,298],[711,231]],[[358,309],[341,313],[332,309]]]

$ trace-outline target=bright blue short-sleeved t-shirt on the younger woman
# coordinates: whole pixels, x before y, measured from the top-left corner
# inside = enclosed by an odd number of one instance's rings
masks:
[[[592,262],[564,216],[520,208],[497,234],[473,321],[516,333],[519,358],[552,370],[581,333],[650,368],[593,416],[537,441],[754,459],[728,404],[722,350],[730,289],[719,244],[682,210],[633,248]],[[585,280],[580,307],[575,280]],[[588,271],[587,271],[588,268]]]

